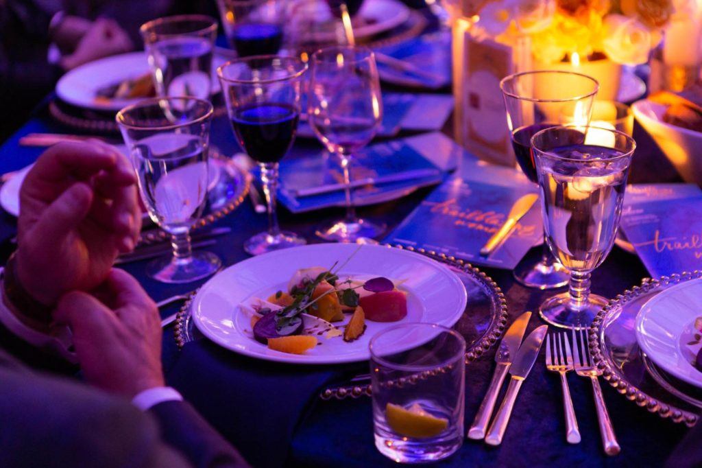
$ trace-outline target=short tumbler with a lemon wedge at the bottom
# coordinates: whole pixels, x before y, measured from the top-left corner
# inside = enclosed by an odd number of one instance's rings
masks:
[[[403,463],[442,460],[463,443],[465,339],[404,323],[371,339],[373,426],[380,453]]]

